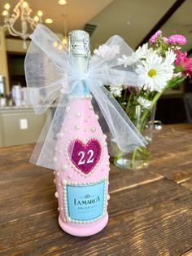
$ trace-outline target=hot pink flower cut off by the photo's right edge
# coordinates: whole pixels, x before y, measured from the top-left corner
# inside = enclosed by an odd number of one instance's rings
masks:
[[[192,75],[192,58],[187,58],[186,52],[176,51],[177,59],[175,60],[175,64],[177,67],[181,68],[182,74],[184,76],[191,77]]]

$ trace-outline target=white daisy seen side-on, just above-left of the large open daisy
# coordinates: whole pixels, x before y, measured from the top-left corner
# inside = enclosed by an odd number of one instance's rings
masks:
[[[124,65],[126,68],[127,66],[137,63],[139,60],[150,57],[154,53],[155,51],[153,51],[152,48],[148,49],[148,44],[145,43],[144,45],[139,46],[138,49],[132,53],[132,55],[122,55],[122,59],[118,59],[118,64]]]

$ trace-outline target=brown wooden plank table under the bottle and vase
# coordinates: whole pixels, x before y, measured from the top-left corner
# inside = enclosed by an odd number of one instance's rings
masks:
[[[73,237],[58,225],[54,174],[33,145],[0,149],[0,255],[192,255],[192,125],[155,131],[146,170],[111,166],[109,223]]]

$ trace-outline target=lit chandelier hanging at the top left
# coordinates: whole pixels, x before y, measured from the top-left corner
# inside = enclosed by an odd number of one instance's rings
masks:
[[[34,30],[38,23],[42,23],[42,11],[37,11],[37,15],[31,17],[32,9],[28,6],[28,2],[20,0],[13,9],[13,13],[10,14],[10,4],[7,3],[4,6],[2,15],[4,16],[4,24],[12,36],[20,37],[24,40],[24,49],[27,48],[26,40],[29,38],[28,25]],[[15,23],[20,18],[21,31],[15,29]],[[53,22],[51,19],[46,19],[45,22],[50,24]]]

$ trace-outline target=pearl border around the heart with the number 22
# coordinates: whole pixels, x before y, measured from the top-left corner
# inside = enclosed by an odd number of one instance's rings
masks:
[[[101,145],[101,148],[102,148],[102,150],[101,150],[101,157],[100,157],[99,161],[97,162],[97,164],[94,166],[94,168],[93,168],[91,171],[89,171],[88,174],[84,174],[81,170],[79,170],[78,168],[76,168],[76,166],[73,165],[72,160],[71,160],[71,158],[70,158],[69,155],[68,155],[68,147],[69,147],[69,144],[72,143],[72,141],[75,141],[76,139],[81,140],[81,142],[84,143],[84,144],[88,143],[90,139],[97,139],[98,142],[99,142],[100,145]],[[69,166],[72,167],[73,170],[76,171],[77,174],[80,174],[82,177],[87,178],[87,177],[89,177],[91,174],[94,173],[94,170],[96,170],[96,169],[98,168],[98,166],[100,165],[101,161],[103,160],[103,151],[104,151],[104,148],[105,148],[105,147],[107,147],[106,141],[103,141],[103,142],[102,142],[102,139],[101,139],[100,137],[98,137],[98,136],[92,135],[92,136],[89,136],[89,139],[81,139],[80,137],[74,137],[74,138],[72,138],[72,139],[70,139],[70,140],[68,141],[68,144],[66,145],[66,148],[65,148],[65,152],[66,152],[66,157],[67,157],[67,160],[68,160],[68,164],[69,164]]]

